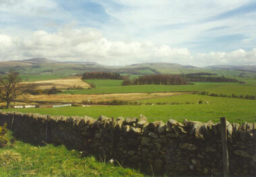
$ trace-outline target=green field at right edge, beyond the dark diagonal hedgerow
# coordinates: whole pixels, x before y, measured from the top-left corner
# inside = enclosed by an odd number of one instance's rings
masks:
[[[238,85],[238,84],[226,84],[222,86],[216,86],[214,88],[207,88],[205,91],[209,93],[225,94],[225,95],[256,95],[256,86]]]

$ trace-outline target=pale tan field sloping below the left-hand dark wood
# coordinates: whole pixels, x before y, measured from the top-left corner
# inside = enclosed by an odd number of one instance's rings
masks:
[[[36,89],[44,90],[55,86],[59,89],[66,89],[72,86],[81,86],[82,88],[89,88],[90,84],[84,82],[81,77],[69,77],[69,78],[59,78],[53,80],[42,80],[36,82],[29,82],[35,84]]]

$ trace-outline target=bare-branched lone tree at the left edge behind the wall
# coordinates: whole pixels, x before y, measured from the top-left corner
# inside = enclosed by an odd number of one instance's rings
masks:
[[[0,78],[0,99],[6,102],[6,108],[18,95],[22,94],[25,86],[18,72],[10,71],[6,76]]]

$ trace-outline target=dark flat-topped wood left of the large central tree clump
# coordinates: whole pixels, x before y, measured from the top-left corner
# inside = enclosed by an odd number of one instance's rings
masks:
[[[86,72],[83,74],[82,79],[115,79],[123,80],[123,76],[116,72]]]

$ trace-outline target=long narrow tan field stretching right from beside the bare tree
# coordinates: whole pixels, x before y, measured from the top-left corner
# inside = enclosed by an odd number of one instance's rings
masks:
[[[27,101],[47,101],[47,102],[63,102],[63,103],[82,103],[82,101],[137,101],[139,99],[150,99],[156,97],[168,97],[172,95],[183,95],[186,93],[113,93],[103,95],[26,95]],[[20,97],[24,100],[24,97]]]

